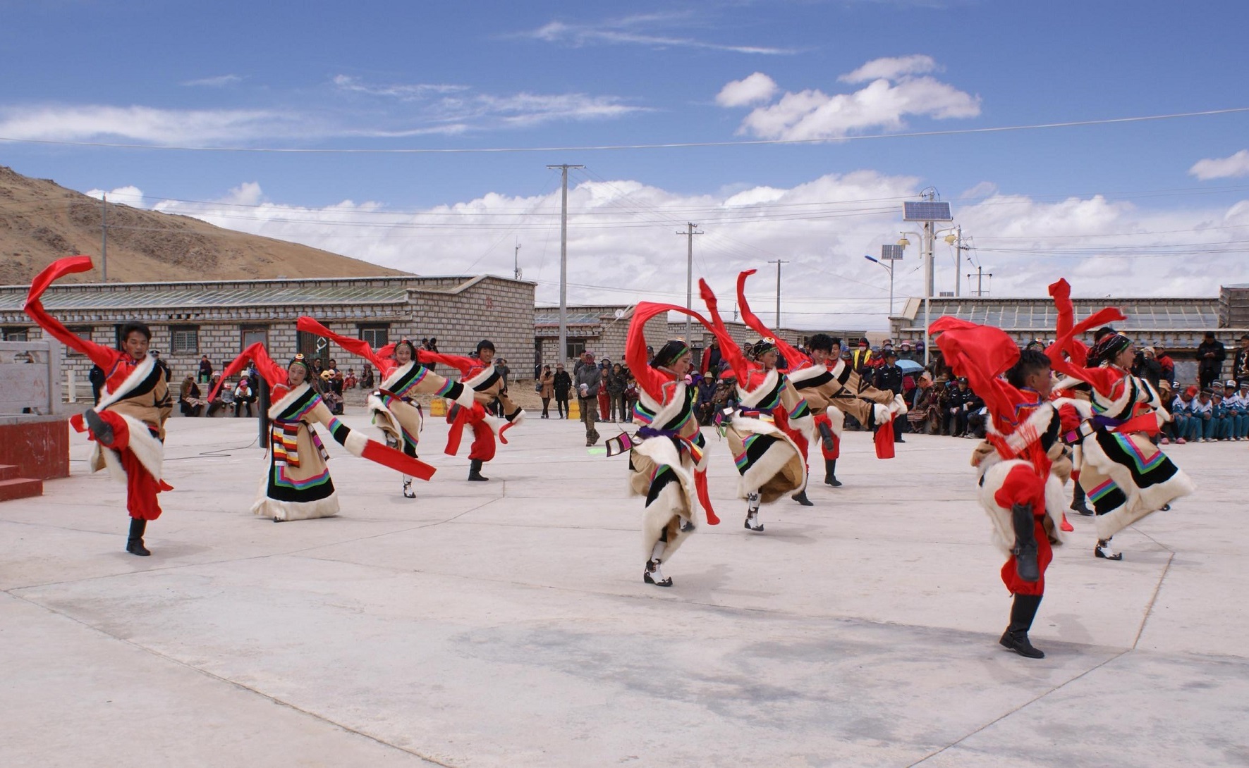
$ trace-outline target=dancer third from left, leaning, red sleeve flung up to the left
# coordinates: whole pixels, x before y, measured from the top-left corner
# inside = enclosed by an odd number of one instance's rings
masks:
[[[367,403],[373,426],[382,431],[387,447],[416,458],[416,446],[421,441],[425,423],[420,403],[412,401],[416,395],[446,397],[462,407],[472,407],[472,391],[425,367],[421,356],[428,356],[430,352],[417,350],[407,338],[375,350],[367,341],[335,333],[311,317],[300,317],[295,325],[301,331],[328,338],[377,367],[382,382],[368,395]],[[410,475],[403,476],[403,497],[416,498]]]

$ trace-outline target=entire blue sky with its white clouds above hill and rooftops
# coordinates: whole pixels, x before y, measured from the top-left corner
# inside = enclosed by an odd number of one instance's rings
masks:
[[[722,291],[738,268],[786,258],[792,325],[883,327],[887,275],[862,256],[908,229],[901,200],[929,186],[994,295],[1038,295],[1063,275],[1084,295],[1249,282],[1249,112],[907,135],[1249,107],[1244,2],[0,12],[0,137],[24,140],[0,141],[0,164],[423,273],[506,273],[520,242],[540,300],[556,296],[546,166],[560,162],[587,166],[571,175],[573,301],[683,297],[676,229],[692,220],[707,232],[696,272]],[[796,139],[821,141],[483,151]],[[342,151],[396,149],[468,151]],[[899,296],[922,290],[907,256]],[[938,249],[939,288],[953,288],[952,263]]]

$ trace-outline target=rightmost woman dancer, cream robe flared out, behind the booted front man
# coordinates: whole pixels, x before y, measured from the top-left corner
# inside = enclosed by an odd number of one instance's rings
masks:
[[[1062,307],[1070,303],[1065,280],[1049,286],[1049,293]],[[1047,350],[1055,371],[1089,385],[1090,402],[1072,401],[1084,417],[1065,440],[1078,445],[1079,482],[1095,512],[1098,542],[1093,554],[1119,561],[1122,552],[1110,547],[1110,538],[1132,523],[1167,508],[1172,501],[1195,491],[1179,467],[1142,433],[1154,435],[1170,415],[1150,383],[1130,373],[1135,347],[1123,333],[1110,332],[1083,356],[1079,335],[1094,326],[1124,316],[1113,308],[1102,310],[1074,326],[1060,330]],[[1064,355],[1065,353],[1065,355]]]

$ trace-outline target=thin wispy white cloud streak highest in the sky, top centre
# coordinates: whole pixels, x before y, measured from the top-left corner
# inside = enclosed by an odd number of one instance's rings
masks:
[[[654,27],[677,27],[687,30],[697,24],[697,17],[688,14],[646,14],[620,19],[607,19],[597,24],[567,24],[563,21],[551,21],[536,30],[521,32],[518,36],[577,47],[595,44],[607,44],[644,45],[649,47],[694,47],[766,56],[796,52],[793,49],[708,42],[687,35],[649,31]]]

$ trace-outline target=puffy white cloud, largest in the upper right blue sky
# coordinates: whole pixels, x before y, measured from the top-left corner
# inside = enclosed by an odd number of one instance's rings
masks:
[[[869,61],[843,79],[862,80],[869,70],[882,76],[851,94],[814,89],[786,92],[778,101],[752,110],[738,132],[791,141],[842,139],[869,129],[901,130],[911,115],[947,120],[980,114],[978,96],[929,76],[913,76],[927,71],[928,64],[921,60],[932,62],[927,56]]]

